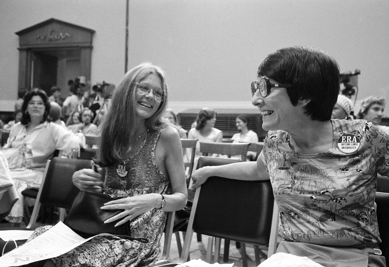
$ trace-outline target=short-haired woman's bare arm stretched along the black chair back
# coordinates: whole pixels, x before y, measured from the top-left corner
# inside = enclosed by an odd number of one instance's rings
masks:
[[[195,190],[211,176],[249,181],[269,179],[269,173],[266,171],[261,158],[258,157],[257,162],[238,162],[221,166],[202,167],[193,172],[193,185],[190,189]]]

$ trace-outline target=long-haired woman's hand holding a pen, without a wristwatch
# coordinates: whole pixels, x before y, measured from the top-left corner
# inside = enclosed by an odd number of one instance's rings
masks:
[[[72,181],[80,190],[101,193],[104,184],[103,176],[92,169],[82,169],[74,172]]]

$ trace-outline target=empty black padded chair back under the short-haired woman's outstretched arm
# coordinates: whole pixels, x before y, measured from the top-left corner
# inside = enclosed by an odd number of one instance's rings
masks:
[[[189,254],[193,230],[198,234],[268,246],[270,233],[278,235],[277,230],[272,230],[273,206],[270,180],[209,177],[196,189],[180,263]]]

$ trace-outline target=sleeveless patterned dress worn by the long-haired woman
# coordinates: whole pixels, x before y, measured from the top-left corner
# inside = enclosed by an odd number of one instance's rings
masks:
[[[104,188],[116,196],[132,197],[148,193],[171,194],[170,180],[159,170],[154,149],[159,131],[150,130],[135,155],[124,160],[128,174],[117,174],[117,165],[106,168]],[[118,162],[119,164],[119,162]],[[123,164],[123,162],[120,162]],[[81,246],[61,255],[57,266],[151,266],[161,253],[160,239],[165,226],[164,211],[149,209],[130,223],[131,236],[142,237],[148,243],[120,239],[119,237],[95,237]],[[51,226],[37,228],[30,239],[45,232]],[[30,240],[29,239],[29,240]]]

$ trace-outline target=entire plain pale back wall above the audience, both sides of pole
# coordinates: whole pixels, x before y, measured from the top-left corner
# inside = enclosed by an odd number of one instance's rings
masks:
[[[0,77],[7,79],[0,100],[16,97],[14,32],[52,17],[96,30],[93,82],[117,83],[123,75],[124,0],[14,0],[2,6]],[[361,70],[358,100],[389,100],[387,14],[384,0],[130,0],[128,67],[151,61],[165,69],[177,112],[204,105],[251,108],[249,85],[267,54],[314,46],[331,54],[341,72]]]

